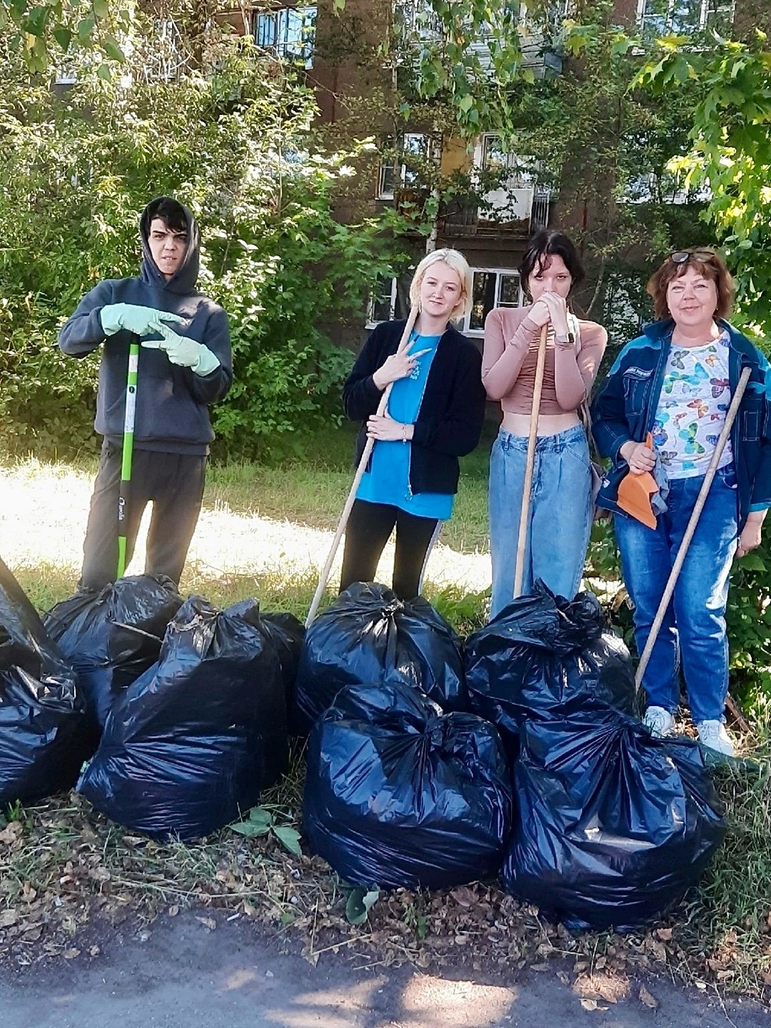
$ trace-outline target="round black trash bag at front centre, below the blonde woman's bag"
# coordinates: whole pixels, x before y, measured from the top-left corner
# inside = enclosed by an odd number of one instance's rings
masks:
[[[511,785],[498,732],[412,685],[348,686],[310,734],[314,852],[352,885],[449,888],[498,874]]]

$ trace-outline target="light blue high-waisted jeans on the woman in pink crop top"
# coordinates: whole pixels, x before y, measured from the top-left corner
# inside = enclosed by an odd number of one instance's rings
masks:
[[[494,617],[514,596],[527,438],[503,429],[490,454],[489,512]],[[536,440],[522,594],[543,579],[558,596],[578,592],[592,525],[589,445],[581,425]]]

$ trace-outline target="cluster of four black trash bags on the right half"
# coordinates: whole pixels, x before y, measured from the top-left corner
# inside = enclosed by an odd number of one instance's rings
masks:
[[[431,612],[431,613],[429,613]],[[311,848],[352,885],[500,872],[572,927],[631,928],[695,883],[725,834],[698,745],[638,719],[623,641],[590,593],[539,587],[458,640],[425,600],[358,584],[308,629]]]

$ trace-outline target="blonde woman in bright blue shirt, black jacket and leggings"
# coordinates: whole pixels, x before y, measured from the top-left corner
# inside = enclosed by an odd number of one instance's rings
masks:
[[[364,343],[342,390],[348,417],[361,420],[357,460],[375,440],[345,529],[340,590],[371,582],[396,527],[393,589],[420,592],[424,568],[442,521],[452,514],[457,458],[479,442],[485,395],[481,357],[449,322],[471,305],[471,270],[456,250],[435,250],[417,265],[409,290],[419,314],[397,354],[403,321],[383,322]],[[386,414],[377,406],[394,387]]]

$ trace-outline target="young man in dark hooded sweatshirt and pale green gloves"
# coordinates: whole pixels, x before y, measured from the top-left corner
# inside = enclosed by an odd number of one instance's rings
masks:
[[[115,580],[117,506],[128,347],[139,358],[132,485],[125,515],[126,563],[148,501],[153,510],[145,571],[179,583],[200,511],[209,444],[209,404],[232,382],[227,315],[195,289],[198,228],[190,211],[158,196],[140,219],[144,257],[135,279],[107,279],[62,327],[65,354],[102,345],[95,428],[104,436],[83,543],[80,586]]]

